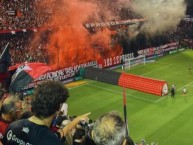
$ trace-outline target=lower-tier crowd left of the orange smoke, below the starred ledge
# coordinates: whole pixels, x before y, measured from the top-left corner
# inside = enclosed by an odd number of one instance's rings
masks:
[[[11,54],[12,65],[22,62],[48,62],[48,55],[46,51],[46,41],[42,37],[42,41],[37,44],[33,44],[33,33],[20,32],[17,35],[4,34],[0,35],[0,48],[3,51],[6,44]]]

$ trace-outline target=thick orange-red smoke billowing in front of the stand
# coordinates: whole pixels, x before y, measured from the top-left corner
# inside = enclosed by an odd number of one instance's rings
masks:
[[[106,1],[106,6],[112,5],[109,4],[110,1]],[[64,68],[122,54],[122,48],[111,47],[109,29],[103,28],[90,33],[84,27],[86,22],[94,23],[114,18],[105,5],[101,7],[93,0],[46,0],[45,3],[52,3],[54,7],[49,19],[53,33],[48,44],[50,63],[54,67]]]

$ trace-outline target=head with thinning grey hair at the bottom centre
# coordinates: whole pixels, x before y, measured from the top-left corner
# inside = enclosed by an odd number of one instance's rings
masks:
[[[96,145],[121,144],[126,136],[126,126],[117,112],[109,112],[96,120],[92,137]]]

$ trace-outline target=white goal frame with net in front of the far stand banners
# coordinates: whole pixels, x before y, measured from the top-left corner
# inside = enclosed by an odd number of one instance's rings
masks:
[[[131,59],[125,59],[124,68],[131,69],[132,67],[137,66],[139,64],[145,64],[145,60],[145,55],[140,55]]]

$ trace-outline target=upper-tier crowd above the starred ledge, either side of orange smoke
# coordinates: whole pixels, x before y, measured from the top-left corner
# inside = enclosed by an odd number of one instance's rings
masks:
[[[53,13],[53,7],[56,7],[55,3],[59,3],[58,1],[53,0],[48,3],[43,0],[1,0],[0,31],[39,28],[43,24],[50,26],[48,19]],[[96,3],[99,7],[106,5],[115,14],[116,20],[141,18],[131,9],[116,7],[112,2],[98,1]],[[102,20],[103,16],[101,16]]]

